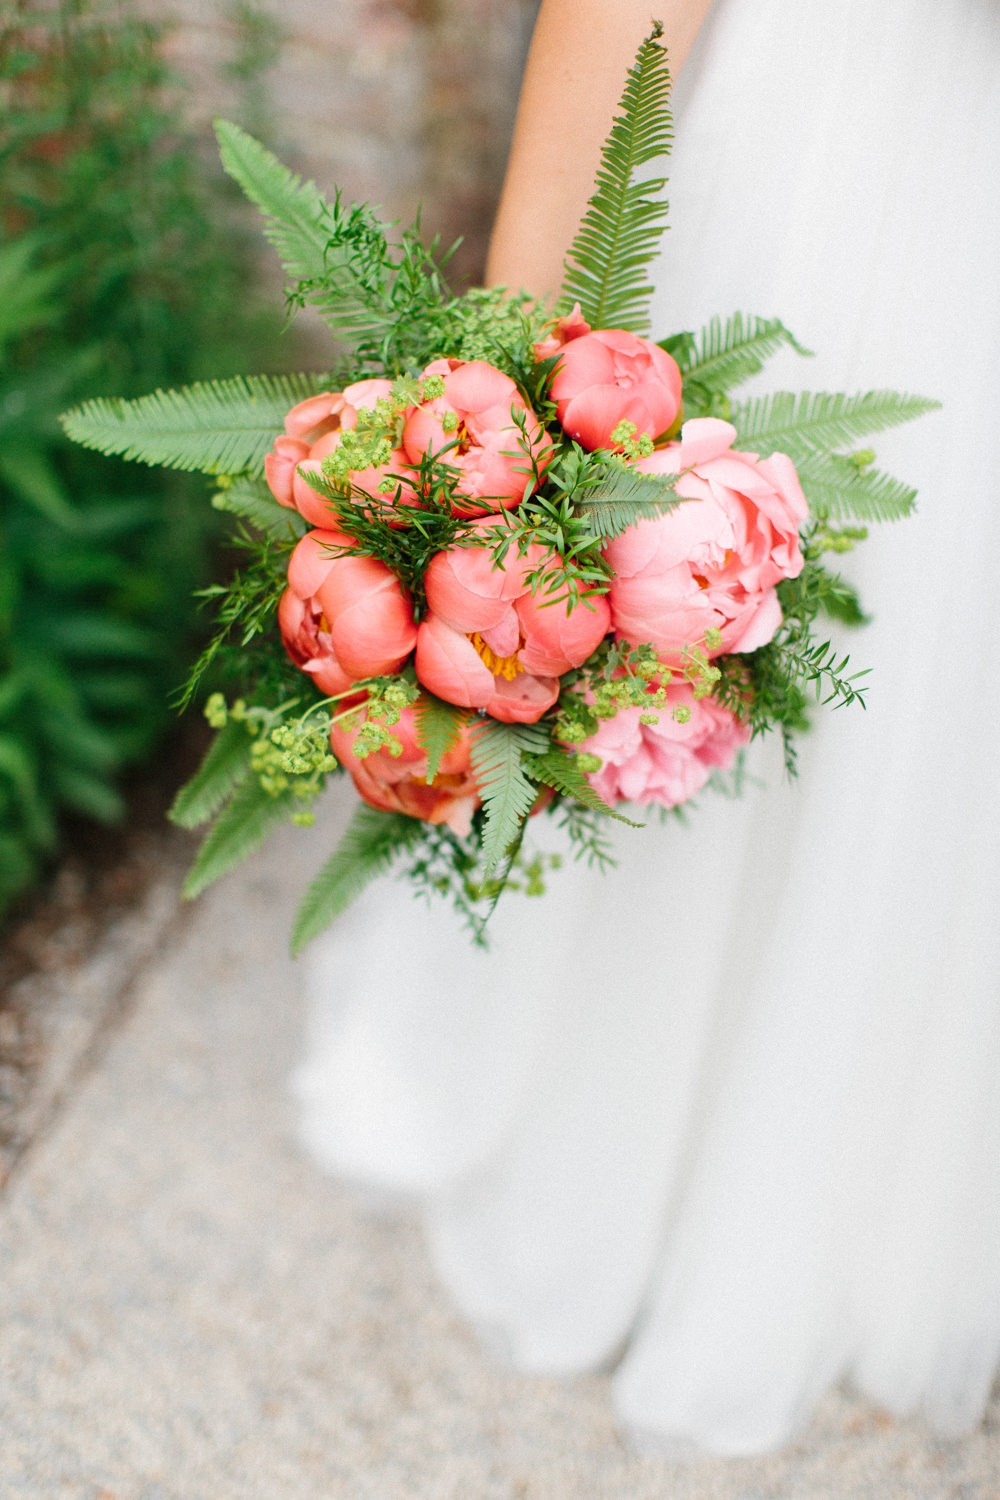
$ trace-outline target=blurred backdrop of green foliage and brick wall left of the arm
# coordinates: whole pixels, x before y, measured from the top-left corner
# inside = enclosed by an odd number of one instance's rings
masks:
[[[220,558],[202,480],[72,447],[58,412],[322,364],[283,328],[223,112],[445,237],[475,279],[534,0],[15,0],[0,20],[0,920],[67,819],[127,818]],[[471,231],[471,232],[469,232]]]

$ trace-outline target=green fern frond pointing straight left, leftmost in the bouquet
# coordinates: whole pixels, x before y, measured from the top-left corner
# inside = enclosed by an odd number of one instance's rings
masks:
[[[289,406],[318,390],[318,375],[238,375],[138,400],[85,400],[61,423],[99,453],[202,474],[259,474]]]

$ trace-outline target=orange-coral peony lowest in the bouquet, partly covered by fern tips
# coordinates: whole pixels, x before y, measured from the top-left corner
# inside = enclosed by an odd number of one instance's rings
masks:
[[[480,806],[480,794],[469,760],[469,729],[465,726],[457,742],[441,762],[433,782],[427,782],[427,752],[417,741],[412,708],[403,708],[393,734],[403,752],[393,756],[376,750],[363,760],[354,754],[360,724],[348,729],[334,723],[330,746],[337,760],[349,771],[361,798],[370,807],[387,813],[406,813],[427,824],[447,824],[456,834],[468,834],[472,813]]]

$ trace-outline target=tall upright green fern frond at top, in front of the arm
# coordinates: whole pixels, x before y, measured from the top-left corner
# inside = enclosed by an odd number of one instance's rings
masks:
[[[570,248],[559,306],[580,303],[595,328],[648,332],[652,286],[643,273],[666,228],[664,177],[636,182],[673,141],[670,74],[657,22],[640,45],[604,142],[594,196]]]

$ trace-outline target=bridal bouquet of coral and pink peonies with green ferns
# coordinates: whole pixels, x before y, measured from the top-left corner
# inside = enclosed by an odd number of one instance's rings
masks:
[[[858,674],[817,634],[862,618],[825,562],[913,490],[856,450],[933,402],[732,392],[783,345],[777,320],[654,342],[645,268],[670,146],[660,28],[604,146],[558,306],[453,296],[445,256],[330,202],[220,123],[292,306],[337,344],[330,374],[94,400],[70,436],[202,470],[246,562],[190,696],[217,735],[172,816],[211,826],[196,894],[346,771],[360,802],[306,892],[298,948],[403,864],[481,936],[508,884],[537,891],[534,814],[607,864],[609,819],[676,808],[765,730],[795,758],[807,700]],[[544,212],[544,208],[541,210]],[[801,351],[805,352],[805,351]],[[622,812],[625,808],[625,812]]]

